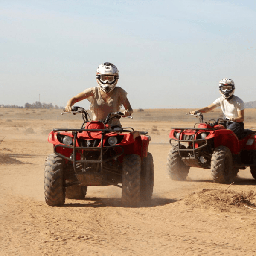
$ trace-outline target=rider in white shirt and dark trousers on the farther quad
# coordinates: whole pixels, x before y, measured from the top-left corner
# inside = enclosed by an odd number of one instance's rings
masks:
[[[235,84],[232,79],[222,79],[219,82],[219,91],[221,93],[221,97],[216,99],[211,105],[190,111],[190,113],[206,113],[216,107],[221,107],[224,116],[226,116],[230,121],[233,121],[222,125],[227,129],[232,130],[237,137],[240,137],[244,131],[244,102],[238,96],[234,95]]]

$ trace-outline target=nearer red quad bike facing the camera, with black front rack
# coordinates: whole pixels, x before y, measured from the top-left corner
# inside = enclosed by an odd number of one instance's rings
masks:
[[[122,112],[102,121],[89,121],[87,111],[76,106],[65,113],[81,113],[84,122],[80,129],[54,129],[49,134],[54,153],[46,158],[44,169],[46,203],[61,206],[65,198],[84,199],[87,186],[109,185],[122,189],[123,207],[151,200],[154,166],[147,132],[111,129],[108,122],[124,116]]]

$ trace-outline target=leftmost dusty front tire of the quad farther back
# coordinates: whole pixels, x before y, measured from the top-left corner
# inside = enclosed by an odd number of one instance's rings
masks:
[[[180,144],[181,149],[185,149],[184,145]],[[183,151],[181,151],[181,154]],[[167,157],[167,174],[172,180],[186,180],[189,173],[189,166],[187,166],[181,159],[179,151],[176,148],[171,148]]]

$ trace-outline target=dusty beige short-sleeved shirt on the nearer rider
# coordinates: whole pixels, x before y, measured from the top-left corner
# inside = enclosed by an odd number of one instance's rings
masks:
[[[90,110],[93,113],[93,120],[103,120],[109,113],[120,111],[126,99],[127,92],[121,87],[115,87],[110,98],[105,102],[100,94],[99,86],[84,90],[84,94],[91,103]],[[111,126],[120,125],[119,119],[115,118],[108,123]]]

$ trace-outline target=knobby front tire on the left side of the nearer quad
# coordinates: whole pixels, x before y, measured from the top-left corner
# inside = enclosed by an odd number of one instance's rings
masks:
[[[44,168],[44,198],[49,206],[60,206],[65,203],[63,166],[63,159],[56,154],[50,154],[46,158]]]

